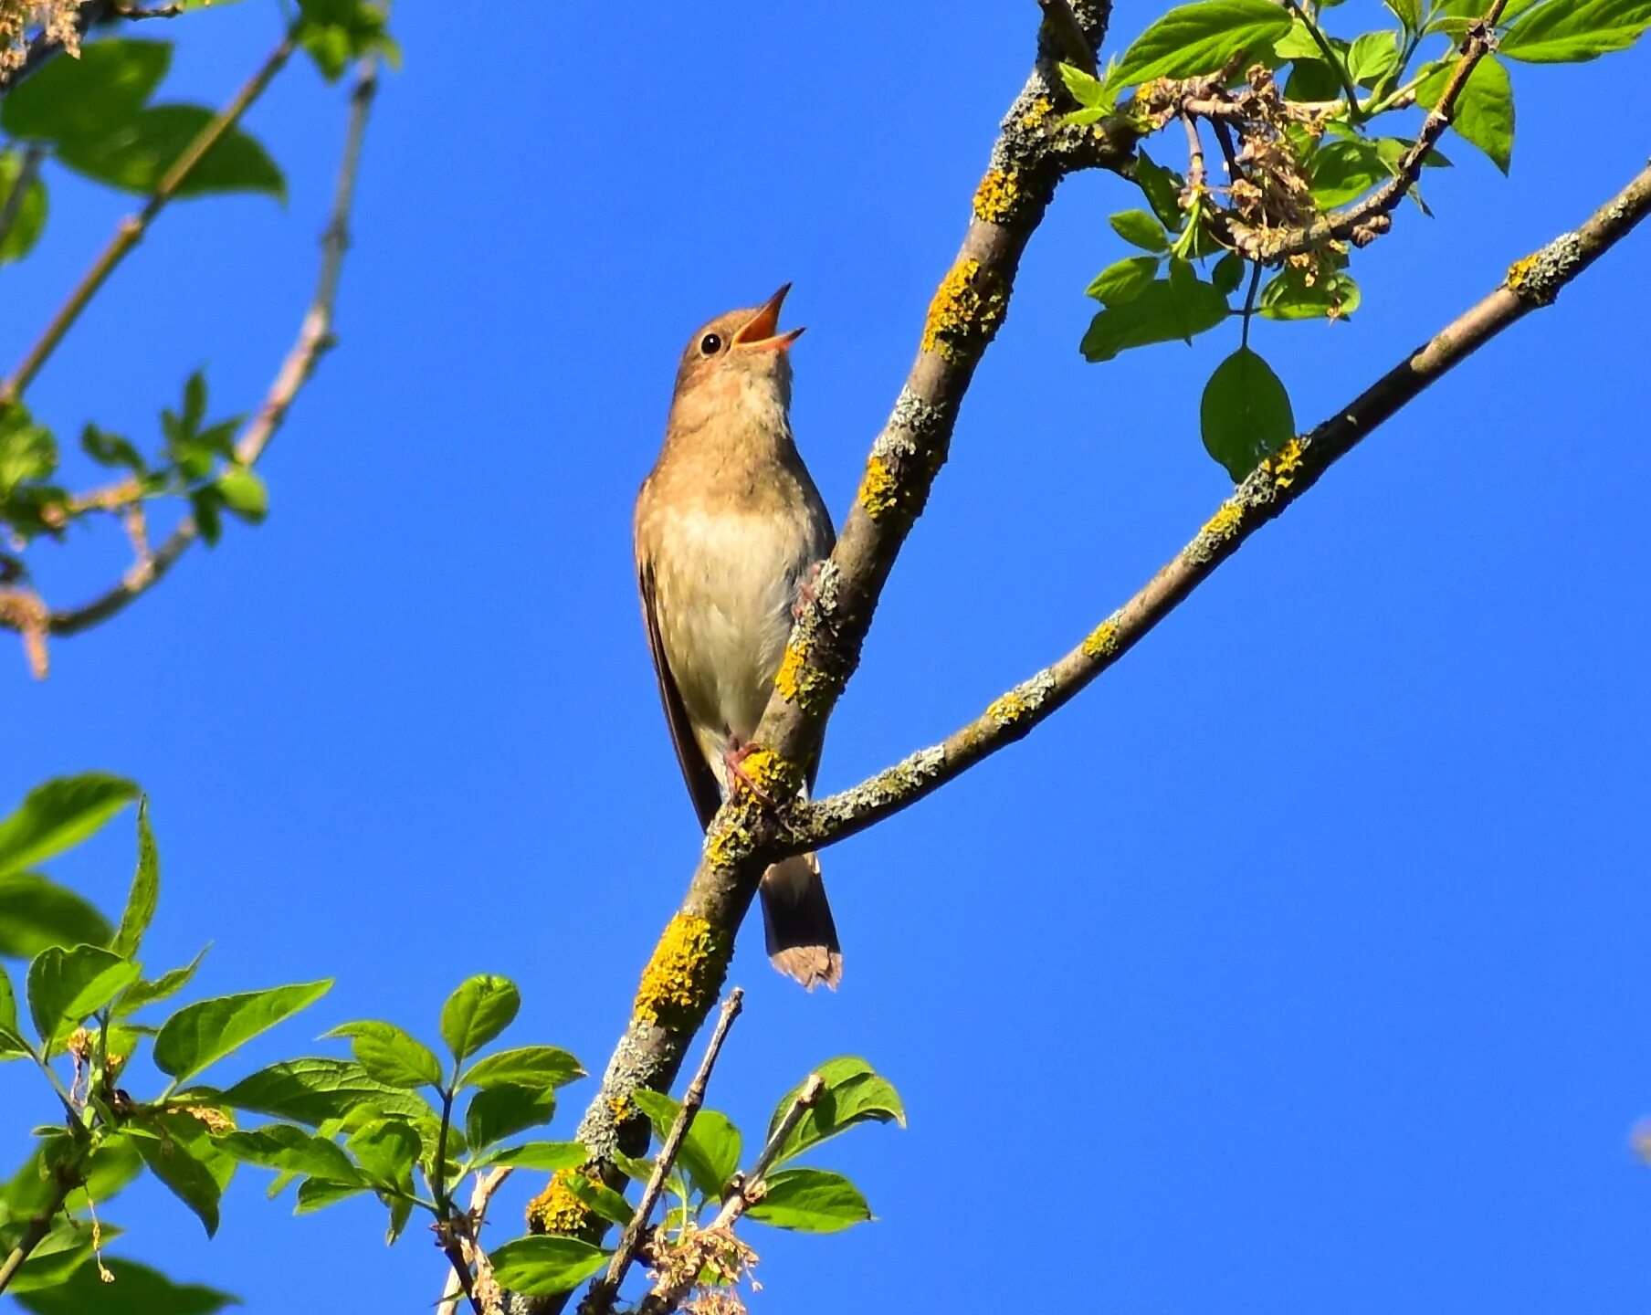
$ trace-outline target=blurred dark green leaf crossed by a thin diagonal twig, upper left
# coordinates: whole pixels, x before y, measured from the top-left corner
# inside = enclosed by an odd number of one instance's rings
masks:
[[[58,160],[101,183],[150,193],[215,117],[206,106],[150,106],[96,135],[59,140]],[[233,127],[173,195],[215,192],[261,192],[284,202],[287,180],[254,137]]]

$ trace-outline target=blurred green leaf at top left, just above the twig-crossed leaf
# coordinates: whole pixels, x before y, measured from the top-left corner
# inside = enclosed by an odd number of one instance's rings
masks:
[[[168,41],[88,41],[78,59],[53,59],[12,88],[0,127],[41,142],[96,137],[142,111],[170,63]]]

